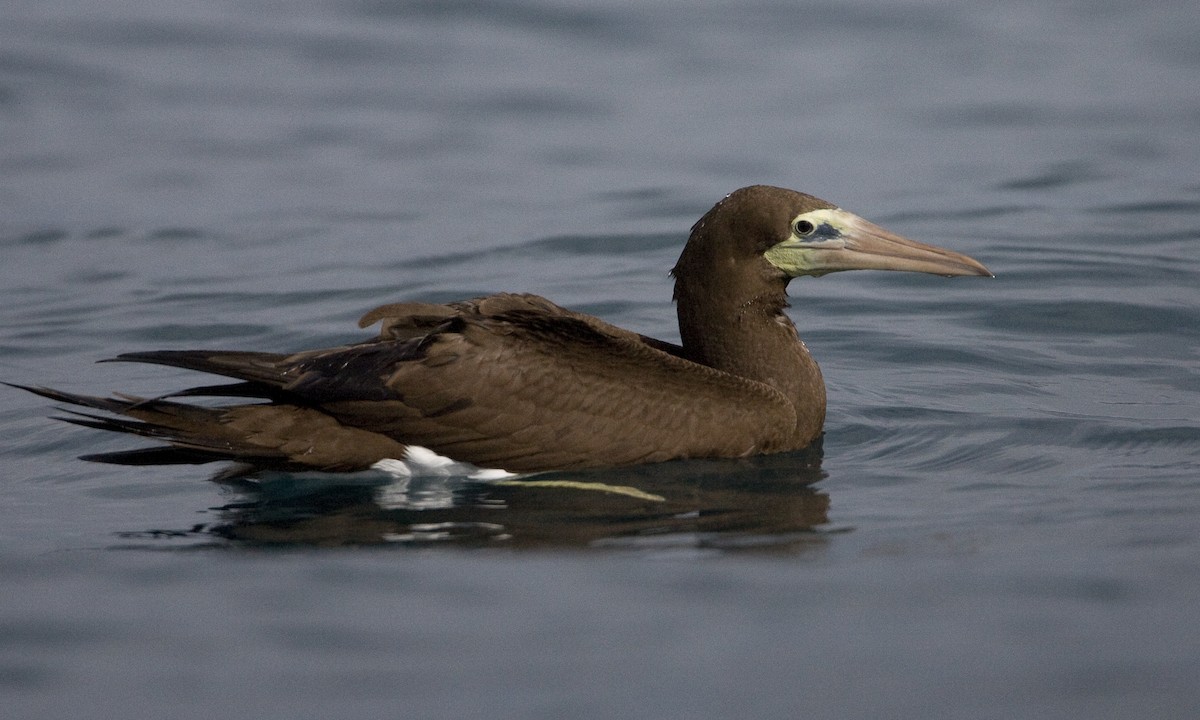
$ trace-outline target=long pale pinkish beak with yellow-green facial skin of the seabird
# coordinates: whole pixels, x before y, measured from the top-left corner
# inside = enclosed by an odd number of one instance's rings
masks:
[[[768,250],[766,258],[793,277],[840,270],[902,270],[992,277],[973,258],[901,238],[845,210],[815,210],[797,217],[792,227],[812,228],[812,232],[802,236],[793,230],[791,238]]]

